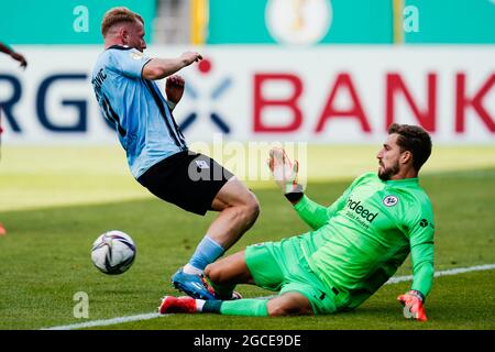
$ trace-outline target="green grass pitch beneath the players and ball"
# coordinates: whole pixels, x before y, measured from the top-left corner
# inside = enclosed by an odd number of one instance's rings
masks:
[[[308,147],[307,194],[330,204],[354,176],[376,169],[376,150]],[[420,180],[435,209],[436,270],[494,264],[495,148],[439,147]],[[308,230],[272,182],[248,184],[262,212],[228,253]],[[0,222],[8,230],[0,237],[0,329],[41,329],[156,311],[163,295],[177,294],[169,277],[215,217],[197,217],[153,198],[132,179],[117,147],[3,147],[0,185]],[[98,272],[89,255],[92,241],[111,229],[125,231],[138,246],[133,266],[119,276]],[[396,275],[409,274],[407,260]],[[354,311],[334,316],[170,315],[94,329],[495,328],[494,270],[436,278],[426,323],[403,318],[396,297],[409,285],[385,285]],[[244,297],[272,294],[246,285],[239,290]],[[88,319],[74,317],[78,292],[88,294]]]

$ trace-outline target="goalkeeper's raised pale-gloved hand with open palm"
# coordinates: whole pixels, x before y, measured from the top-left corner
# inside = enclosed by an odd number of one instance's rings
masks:
[[[295,161],[293,164],[283,148],[270,151],[268,167],[284,195],[302,191],[302,186],[297,183],[299,163]]]

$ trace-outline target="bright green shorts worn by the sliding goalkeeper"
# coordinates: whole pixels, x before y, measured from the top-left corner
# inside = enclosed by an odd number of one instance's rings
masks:
[[[297,292],[308,298],[315,315],[337,311],[334,294],[309,268],[297,237],[250,245],[245,262],[257,286],[279,295]]]

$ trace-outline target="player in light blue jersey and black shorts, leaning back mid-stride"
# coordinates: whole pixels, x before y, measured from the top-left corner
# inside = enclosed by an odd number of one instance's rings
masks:
[[[173,285],[197,298],[235,298],[205,290],[202,273],[252,227],[260,211],[257,199],[217,162],[190,152],[172,114],[183,96],[184,79],[170,75],[201,55],[144,55],[144,21],[127,8],[109,10],[101,32],[105,51],[91,84],[105,118],[116,127],[132,175],[155,196],[187,211],[202,216],[219,211],[189,262],[172,277]],[[167,100],[154,82],[165,77]]]

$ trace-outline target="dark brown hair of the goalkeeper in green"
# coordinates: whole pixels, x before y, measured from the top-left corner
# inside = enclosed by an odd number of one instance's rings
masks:
[[[413,154],[413,166],[419,172],[431,154],[431,138],[418,125],[393,123],[388,127],[388,134],[397,133],[397,145],[400,152]]]

